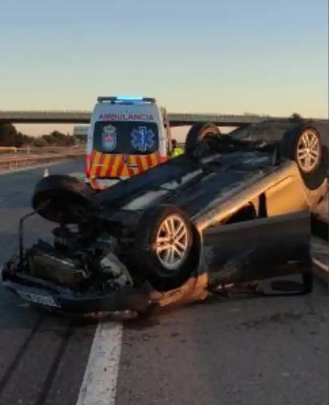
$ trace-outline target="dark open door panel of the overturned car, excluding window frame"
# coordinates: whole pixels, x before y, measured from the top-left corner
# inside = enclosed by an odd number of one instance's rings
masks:
[[[202,236],[209,271],[221,273],[224,283],[289,274],[290,264],[311,263],[309,211],[218,225]]]

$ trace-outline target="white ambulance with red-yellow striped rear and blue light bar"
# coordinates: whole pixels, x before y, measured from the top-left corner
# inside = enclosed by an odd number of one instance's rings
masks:
[[[152,97],[98,97],[87,141],[86,182],[95,190],[165,162],[171,155],[166,110]]]

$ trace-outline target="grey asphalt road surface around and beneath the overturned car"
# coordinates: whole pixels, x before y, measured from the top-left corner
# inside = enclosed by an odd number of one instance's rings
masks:
[[[18,219],[43,172],[0,175],[1,262],[17,246]],[[50,228],[31,219],[26,243]],[[35,312],[0,287],[0,405],[324,405],[327,313],[317,284],[305,297],[213,299],[148,321],[88,326]]]

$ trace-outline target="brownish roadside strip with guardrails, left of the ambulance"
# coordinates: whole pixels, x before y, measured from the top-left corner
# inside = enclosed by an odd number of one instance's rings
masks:
[[[4,151],[4,149],[3,149]],[[33,167],[54,161],[84,156],[85,147],[17,148],[13,153],[0,153],[0,171]]]

